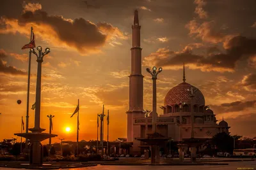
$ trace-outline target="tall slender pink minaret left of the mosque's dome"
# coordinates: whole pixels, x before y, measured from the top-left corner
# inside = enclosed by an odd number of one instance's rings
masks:
[[[127,111],[127,141],[133,141],[133,118],[143,117],[143,75],[141,74],[140,28],[138,11],[134,11],[132,25],[131,74],[129,84],[129,111]]]

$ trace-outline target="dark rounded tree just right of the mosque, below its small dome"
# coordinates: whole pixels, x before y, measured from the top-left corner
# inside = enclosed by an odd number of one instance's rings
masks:
[[[232,153],[234,139],[226,132],[221,132],[212,137],[212,145],[215,145],[219,152]]]

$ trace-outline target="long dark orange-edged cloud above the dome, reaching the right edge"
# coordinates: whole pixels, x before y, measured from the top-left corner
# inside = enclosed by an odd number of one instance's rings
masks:
[[[256,54],[256,39],[243,36],[234,36],[228,39],[223,47],[225,53],[213,53],[207,56],[194,54],[193,50],[182,50],[182,52],[171,52],[166,48],[151,53],[145,57],[145,65],[175,67],[183,62],[193,64],[194,69],[202,71],[234,71],[239,60],[245,60]],[[212,50],[217,50],[212,49]],[[209,52],[209,51],[208,51]],[[147,63],[147,60],[149,63]]]

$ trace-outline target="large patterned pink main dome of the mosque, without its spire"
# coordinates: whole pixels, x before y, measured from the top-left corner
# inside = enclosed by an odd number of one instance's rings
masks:
[[[191,87],[193,87],[193,89],[197,89],[193,85],[186,82],[182,82],[179,85],[173,87],[165,96],[164,106],[166,105],[172,106],[173,104],[179,104],[180,101],[182,103],[190,104],[191,92],[189,92],[188,89],[190,90]],[[199,89],[196,90],[195,92],[195,98],[194,98],[193,104],[198,104],[199,106],[205,105],[204,95]]]

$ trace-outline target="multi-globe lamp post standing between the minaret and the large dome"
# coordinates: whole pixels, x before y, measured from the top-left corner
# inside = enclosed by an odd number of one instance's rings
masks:
[[[162,67],[159,67],[159,70],[157,71],[157,67],[153,67],[152,71],[150,71],[149,68],[146,69],[148,73],[151,74],[152,80],[153,80],[153,115],[152,115],[152,131],[153,133],[156,133],[156,80],[157,80],[157,74],[161,73],[163,71]]]

